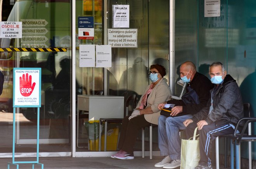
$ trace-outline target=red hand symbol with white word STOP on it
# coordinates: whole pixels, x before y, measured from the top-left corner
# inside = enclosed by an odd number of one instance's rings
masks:
[[[30,96],[35,88],[36,83],[34,82],[32,85],[32,76],[26,73],[26,79],[25,74],[22,75],[22,78],[19,77],[19,90],[21,92],[22,96]]]

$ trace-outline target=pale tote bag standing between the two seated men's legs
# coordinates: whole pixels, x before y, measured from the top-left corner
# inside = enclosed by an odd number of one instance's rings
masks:
[[[194,169],[198,166],[200,160],[200,151],[199,151],[199,140],[196,140],[197,128],[195,128],[194,136],[188,140],[182,139],[181,147],[181,165],[180,169]],[[193,140],[191,140],[193,138]]]

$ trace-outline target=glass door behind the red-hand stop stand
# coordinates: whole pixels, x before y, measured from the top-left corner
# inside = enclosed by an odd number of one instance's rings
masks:
[[[13,68],[42,68],[40,153],[71,155],[71,5],[69,0],[17,0],[3,2],[2,21],[22,22],[22,38],[1,38],[1,48],[66,47],[67,52],[0,52],[5,76],[0,96],[2,157],[12,152]],[[37,108],[16,110],[16,152],[35,157]],[[18,155],[18,156],[23,156]]]

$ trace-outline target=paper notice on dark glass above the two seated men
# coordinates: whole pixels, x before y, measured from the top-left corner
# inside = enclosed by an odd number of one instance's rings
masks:
[[[204,0],[204,17],[220,16],[220,0]]]

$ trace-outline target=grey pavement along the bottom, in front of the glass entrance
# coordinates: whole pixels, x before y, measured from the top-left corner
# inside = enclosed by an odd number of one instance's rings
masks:
[[[39,162],[44,164],[44,169],[159,169],[154,167],[154,164],[161,159],[162,157],[153,157],[151,160],[148,157],[135,157],[134,160],[116,160],[110,157],[41,157]],[[19,160],[35,159],[19,158]],[[12,159],[0,159],[0,169],[6,169],[7,162],[12,162]],[[16,167],[10,166],[10,169],[14,168],[16,169]],[[41,167],[35,165],[35,169],[39,168]],[[32,165],[19,164],[19,169],[32,169]]]

